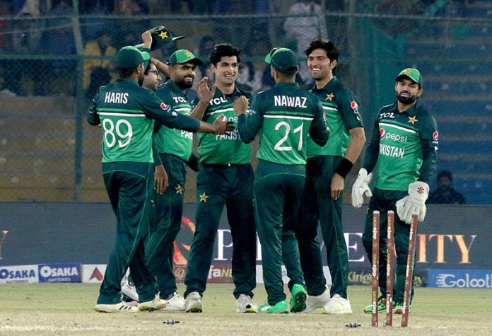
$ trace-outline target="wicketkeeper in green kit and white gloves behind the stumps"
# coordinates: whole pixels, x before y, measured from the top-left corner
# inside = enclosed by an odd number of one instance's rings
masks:
[[[422,94],[422,76],[417,69],[402,70],[394,89],[397,102],[383,106],[374,123],[370,144],[358,178],[352,187],[352,205],[359,208],[363,195],[372,196],[362,236],[365,253],[372,260],[373,212],[380,212],[380,274],[382,293],[378,310],[385,310],[386,231],[387,212],[396,211],[394,244],[397,252],[396,283],[394,285],[394,313],[403,312],[406,260],[408,257],[411,216],[418,221],[426,217],[428,182],[435,171],[438,155],[438,125],[434,117],[418,103]],[[377,166],[376,182],[371,192],[368,184]],[[408,194],[407,194],[408,190]],[[413,297],[414,289],[411,290]],[[364,309],[371,313],[371,306]]]

